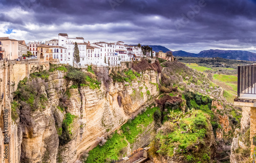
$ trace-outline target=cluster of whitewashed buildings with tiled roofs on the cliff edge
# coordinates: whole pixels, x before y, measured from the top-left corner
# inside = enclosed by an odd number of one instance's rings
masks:
[[[46,41],[46,45],[53,46],[52,58],[59,59],[60,63],[76,66],[74,63],[74,48],[77,42],[80,62],[78,66],[88,65],[108,66],[120,65],[121,62],[140,60],[143,57],[141,48],[124,44],[123,41],[84,42],[83,37],[70,38],[66,33],[59,33],[58,39]]]

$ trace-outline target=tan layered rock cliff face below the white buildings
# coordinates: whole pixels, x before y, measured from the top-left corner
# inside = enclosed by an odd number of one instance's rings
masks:
[[[110,91],[106,91],[103,84],[100,89],[69,89],[72,83],[68,83],[64,76],[65,73],[53,72],[47,86],[42,88],[48,96],[47,106],[33,112],[32,126],[23,131],[21,155],[24,161],[74,162],[81,152],[93,147],[97,137],[115,131],[159,94],[157,81],[160,74],[154,71],[145,71],[141,79],[132,83],[111,83]],[[62,112],[57,106],[67,89],[71,96],[65,102],[67,109]],[[65,113],[75,115],[75,119],[71,126],[71,141],[60,146],[57,130]]]

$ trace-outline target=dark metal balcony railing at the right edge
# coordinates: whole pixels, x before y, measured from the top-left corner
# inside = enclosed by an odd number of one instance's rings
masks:
[[[238,66],[238,97],[256,94],[256,65]]]

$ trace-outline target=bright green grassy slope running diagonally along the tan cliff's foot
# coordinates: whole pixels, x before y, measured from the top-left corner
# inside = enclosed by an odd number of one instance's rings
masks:
[[[89,157],[86,162],[105,162],[110,159],[118,159],[123,157],[122,149],[127,146],[128,142],[133,143],[138,134],[144,131],[150,123],[154,122],[153,114],[159,108],[154,107],[147,109],[145,112],[138,114],[138,116],[121,127],[122,132],[115,132],[103,146],[97,146],[89,152]]]

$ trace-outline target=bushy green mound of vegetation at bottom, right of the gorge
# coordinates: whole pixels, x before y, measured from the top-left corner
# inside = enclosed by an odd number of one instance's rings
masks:
[[[201,110],[191,110],[185,114],[171,111],[169,118],[151,143],[150,154],[172,157],[176,153],[187,162],[208,162],[210,153],[205,136],[211,129],[207,114]]]

